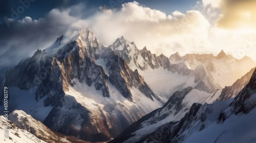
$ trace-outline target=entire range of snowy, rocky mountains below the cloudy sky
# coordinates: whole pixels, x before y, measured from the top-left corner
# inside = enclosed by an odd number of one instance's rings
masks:
[[[0,77],[8,141],[255,142],[255,66],[223,50],[157,56],[74,31]]]

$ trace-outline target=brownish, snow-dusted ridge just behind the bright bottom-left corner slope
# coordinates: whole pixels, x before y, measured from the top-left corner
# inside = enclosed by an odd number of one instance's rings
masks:
[[[46,142],[87,142],[78,140],[74,136],[65,136],[57,133],[22,110],[14,110],[9,114],[8,118],[9,121],[17,125],[20,129],[24,129]]]

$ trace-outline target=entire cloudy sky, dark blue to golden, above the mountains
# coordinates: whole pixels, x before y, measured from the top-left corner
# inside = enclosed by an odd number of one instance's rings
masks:
[[[224,50],[256,60],[255,7],[254,0],[0,0],[0,66],[82,28],[105,45],[124,36],[167,57]]]

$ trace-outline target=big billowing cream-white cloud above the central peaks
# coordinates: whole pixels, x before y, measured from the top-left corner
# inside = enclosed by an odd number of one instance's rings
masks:
[[[90,19],[89,27],[107,45],[124,36],[139,49],[146,46],[157,55],[169,56],[176,51],[182,54],[199,51],[208,44],[210,25],[199,11],[166,15],[137,2],[125,3],[120,10],[100,9],[102,12]]]

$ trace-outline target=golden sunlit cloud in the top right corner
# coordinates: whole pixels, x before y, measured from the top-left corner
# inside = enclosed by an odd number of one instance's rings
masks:
[[[209,1],[209,0],[203,0]],[[214,3],[214,4],[212,4]],[[207,4],[205,2],[204,4]],[[230,30],[255,30],[256,1],[254,0],[223,0],[211,1],[211,5],[221,10],[216,26]]]

